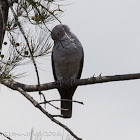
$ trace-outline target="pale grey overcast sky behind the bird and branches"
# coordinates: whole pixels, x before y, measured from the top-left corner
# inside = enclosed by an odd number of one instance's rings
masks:
[[[81,78],[140,72],[140,1],[138,0],[70,0],[60,18],[78,37],[84,48],[85,60]],[[58,24],[58,23],[56,23]],[[39,61],[41,83],[53,80],[51,57]],[[36,84],[33,70],[29,77],[18,81]],[[22,70],[22,68],[20,69]],[[140,80],[80,86],[74,100],[71,119],[66,124],[83,140],[140,139]],[[44,91],[46,98],[59,99],[57,90]],[[37,93],[30,93],[40,101]],[[54,103],[59,106],[59,103]],[[52,114],[59,111],[46,108]],[[20,93],[0,86],[0,132],[14,140],[68,140],[70,135],[51,122]],[[4,139],[0,137],[0,139]]]

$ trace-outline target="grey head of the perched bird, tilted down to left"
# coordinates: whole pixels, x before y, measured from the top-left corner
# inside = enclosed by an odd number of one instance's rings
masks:
[[[54,42],[57,42],[60,39],[62,39],[64,35],[69,31],[70,29],[67,25],[56,25],[51,32],[51,37],[54,40]]]

